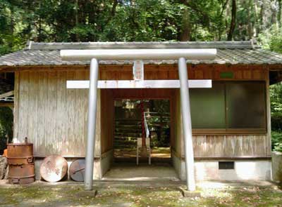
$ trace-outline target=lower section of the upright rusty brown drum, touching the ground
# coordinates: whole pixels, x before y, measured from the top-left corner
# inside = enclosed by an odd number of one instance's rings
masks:
[[[34,163],[25,165],[10,165],[8,170],[8,181],[11,184],[27,184],[35,181]]]

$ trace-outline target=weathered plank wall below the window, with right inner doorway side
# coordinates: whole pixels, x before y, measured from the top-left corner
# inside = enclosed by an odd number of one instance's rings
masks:
[[[173,97],[175,114],[175,140],[171,148],[173,154],[184,158],[184,140],[182,117],[180,114],[180,94],[176,91]],[[203,117],[204,118],[204,117]],[[270,115],[268,115],[270,119]],[[269,135],[269,126],[267,133],[243,133],[238,132],[232,135],[207,133],[199,135],[199,131],[193,133],[194,156],[197,159],[235,159],[235,158],[268,158],[271,156],[271,139]]]

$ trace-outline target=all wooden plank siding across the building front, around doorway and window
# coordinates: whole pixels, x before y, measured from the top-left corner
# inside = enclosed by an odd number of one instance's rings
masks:
[[[88,90],[66,89],[66,80],[89,79],[89,70],[59,68],[34,67],[16,72],[14,137],[20,140],[27,137],[33,142],[35,156],[85,156]],[[190,79],[224,80],[220,79],[221,72],[234,72],[233,79],[226,79],[231,81],[267,81],[269,74],[268,67],[260,65],[188,65]],[[132,65],[101,65],[99,79],[133,79]],[[178,79],[177,65],[145,65],[145,79]],[[113,146],[113,105],[114,99],[121,98],[171,100],[171,147],[178,156],[183,156],[177,89],[99,90],[95,156],[108,152]],[[195,157],[270,156],[269,130],[268,134],[260,135],[195,134]]]

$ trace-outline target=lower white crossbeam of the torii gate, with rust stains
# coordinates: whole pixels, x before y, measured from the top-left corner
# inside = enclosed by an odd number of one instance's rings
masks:
[[[67,81],[66,88],[89,88],[90,81]],[[212,80],[189,80],[189,88],[212,88]],[[179,80],[98,81],[98,88],[180,88]]]

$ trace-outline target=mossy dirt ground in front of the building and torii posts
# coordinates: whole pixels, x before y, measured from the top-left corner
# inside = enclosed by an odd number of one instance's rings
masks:
[[[0,206],[282,206],[282,191],[269,182],[200,182],[201,197],[184,198],[180,181],[94,181],[86,192],[78,182],[0,182]]]

